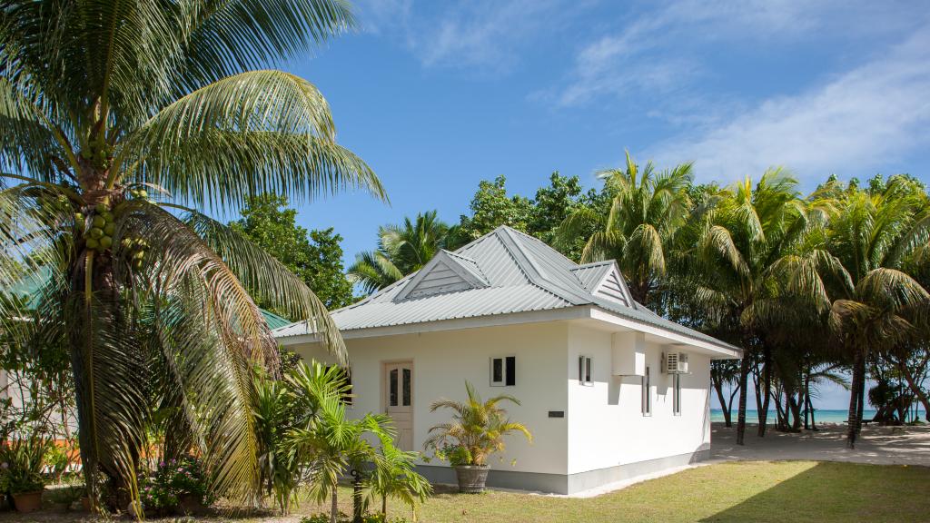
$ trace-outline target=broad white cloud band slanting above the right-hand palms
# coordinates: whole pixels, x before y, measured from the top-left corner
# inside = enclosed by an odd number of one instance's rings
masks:
[[[930,145],[930,29],[819,87],[777,97],[645,151],[732,181],[774,164],[799,176],[868,172]]]

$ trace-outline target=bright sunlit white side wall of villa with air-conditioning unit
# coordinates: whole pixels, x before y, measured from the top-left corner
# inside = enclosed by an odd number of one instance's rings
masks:
[[[672,411],[672,377],[659,372],[661,353],[670,350],[645,344],[650,368],[652,413],[642,409],[642,378],[612,376],[611,333],[580,325],[568,329],[568,474],[570,489],[595,487],[661,468],[703,459],[711,444],[711,360],[689,355],[689,374],[682,375],[682,411]],[[578,356],[592,356],[591,385],[578,382]],[[641,463],[631,466],[632,463]]]

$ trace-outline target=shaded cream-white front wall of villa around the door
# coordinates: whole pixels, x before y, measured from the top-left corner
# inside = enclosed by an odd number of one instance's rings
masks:
[[[567,338],[567,324],[553,322],[347,340],[356,395],[352,413],[362,416],[382,411],[382,363],[409,359],[414,364],[414,450],[423,449],[432,425],[449,420],[448,410],[430,412],[430,404],[440,397],[464,400],[468,380],[484,398],[507,394],[519,399],[522,406],[502,405],[512,420],[523,422],[534,436],[532,445],[520,435],[507,439],[506,452],[489,463],[492,471],[501,471],[492,472],[490,484],[495,484],[495,476],[498,484],[521,484],[521,473],[558,475],[564,483],[567,418],[550,418],[549,411],[565,412],[568,407],[563,366]],[[305,359],[331,361],[312,346],[291,349]],[[508,355],[516,356],[515,385],[490,386],[490,358]],[[451,471],[429,470],[437,465],[447,468],[433,461],[425,467],[427,476],[454,482]]]

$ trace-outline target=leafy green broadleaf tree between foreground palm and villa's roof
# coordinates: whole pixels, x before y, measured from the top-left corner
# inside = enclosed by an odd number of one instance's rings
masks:
[[[242,218],[230,223],[237,231],[298,275],[329,310],[352,303],[352,284],[343,273],[342,236],[332,228],[310,232],[297,224],[297,211],[287,196],[261,194],[246,200]],[[270,303],[259,307],[281,314]],[[296,318],[290,318],[292,320]]]

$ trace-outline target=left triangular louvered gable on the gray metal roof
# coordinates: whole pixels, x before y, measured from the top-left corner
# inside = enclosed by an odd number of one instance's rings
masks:
[[[469,258],[440,250],[400,292],[394,302],[426,298],[437,294],[488,287],[478,264]]]

